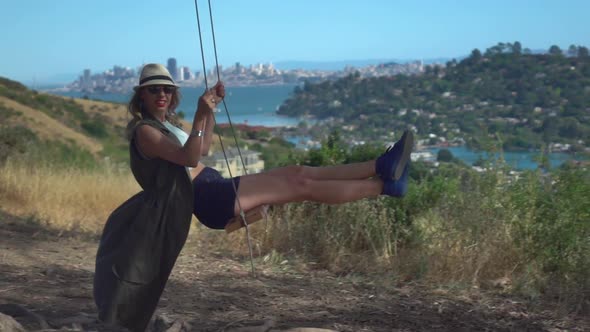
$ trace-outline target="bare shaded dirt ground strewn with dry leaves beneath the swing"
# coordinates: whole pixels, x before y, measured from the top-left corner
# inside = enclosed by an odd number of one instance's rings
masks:
[[[268,266],[259,266],[253,278],[247,262],[200,252],[193,242],[184,248],[160,301],[156,325],[165,328],[159,330],[590,330],[588,317],[556,318],[500,295],[376,287],[321,271]],[[0,212],[0,312],[31,331],[115,330],[96,321],[96,248],[95,238],[56,234]]]

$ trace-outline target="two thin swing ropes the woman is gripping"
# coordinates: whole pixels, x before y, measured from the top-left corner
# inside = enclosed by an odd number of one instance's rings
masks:
[[[209,4],[209,19],[211,22],[211,35],[213,38],[213,51],[215,54],[215,71],[217,72],[217,81],[220,82],[221,76],[219,73],[219,62],[217,60],[217,44],[215,42],[215,29],[213,27],[213,11],[211,10],[211,0],[208,0],[207,2]],[[209,89],[209,85],[207,83],[207,67],[205,66],[205,51],[204,51],[204,47],[203,47],[203,36],[201,33],[201,21],[200,21],[200,17],[199,17],[199,6],[197,5],[197,0],[195,0],[195,12],[197,15],[197,29],[199,31],[199,44],[201,47],[201,59],[202,59],[202,63],[203,63],[203,78],[204,78],[204,82],[205,82],[205,91],[207,91]],[[223,101],[223,107],[225,109],[225,114],[227,116],[227,120],[228,120],[228,123],[230,126],[230,130],[232,132],[232,135],[234,137],[234,142],[235,142],[236,148],[238,150],[238,155],[239,155],[240,161],[242,163],[244,175],[247,175],[248,171],[246,169],[246,164],[244,163],[244,157],[242,156],[242,151],[240,150],[240,146],[238,144],[238,138],[236,136],[236,132],[234,130],[234,126],[232,124],[231,117],[229,115],[227,104],[225,103],[225,98],[222,101]],[[215,119],[215,116],[213,116],[213,121],[214,121],[214,126],[217,127],[217,121]],[[230,176],[230,178],[233,178],[231,168],[229,165],[229,160],[227,158],[227,153],[225,151],[223,140],[221,138],[221,133],[218,133],[217,137],[219,137],[219,144],[221,146],[221,151],[223,152],[223,158],[225,159],[225,164],[227,166],[229,176]],[[248,226],[248,222],[246,221],[246,213],[244,212],[244,209],[242,208],[242,204],[240,202],[240,198],[238,197],[238,189],[236,188],[236,184],[234,181],[231,181],[231,183],[232,183],[232,187],[234,189],[234,193],[236,195],[236,202],[238,202],[238,208],[240,209],[240,217],[242,218],[242,222],[244,223],[245,228],[246,228],[246,239],[248,241],[248,251],[250,253],[250,265],[252,267],[252,275],[256,276],[256,271],[254,269],[254,255],[253,255],[252,243],[251,243],[251,239],[250,239],[250,229]]]

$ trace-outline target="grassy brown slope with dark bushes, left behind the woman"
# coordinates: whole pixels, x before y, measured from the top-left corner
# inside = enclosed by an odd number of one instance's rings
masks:
[[[0,160],[31,142],[95,159],[128,158],[124,104],[49,95],[0,77],[0,116]]]

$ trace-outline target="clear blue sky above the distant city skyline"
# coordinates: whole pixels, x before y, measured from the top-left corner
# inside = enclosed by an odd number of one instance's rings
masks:
[[[207,1],[198,1],[207,66]],[[590,47],[588,0],[212,0],[221,65],[429,59],[498,42]],[[83,69],[164,63],[201,69],[193,0],[18,0],[0,4],[0,76],[68,81]]]

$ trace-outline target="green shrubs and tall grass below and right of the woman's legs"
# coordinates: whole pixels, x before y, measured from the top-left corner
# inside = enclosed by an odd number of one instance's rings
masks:
[[[339,151],[312,153],[299,158],[326,162]],[[402,199],[275,207],[266,243],[342,273],[468,285],[508,277],[527,296],[589,299],[590,171],[514,174],[501,159],[485,164],[492,168],[478,173],[413,163]]]

